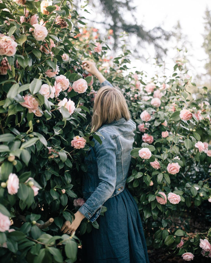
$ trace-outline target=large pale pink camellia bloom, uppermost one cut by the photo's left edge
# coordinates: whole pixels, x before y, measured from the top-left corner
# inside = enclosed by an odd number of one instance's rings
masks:
[[[1,36],[0,38],[0,56],[14,56],[16,53],[17,43],[8,36]]]

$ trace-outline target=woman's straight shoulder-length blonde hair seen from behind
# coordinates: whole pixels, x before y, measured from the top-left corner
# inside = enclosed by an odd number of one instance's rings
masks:
[[[118,87],[101,87],[94,100],[92,129],[97,131],[102,124],[121,118],[130,119],[126,99]]]

